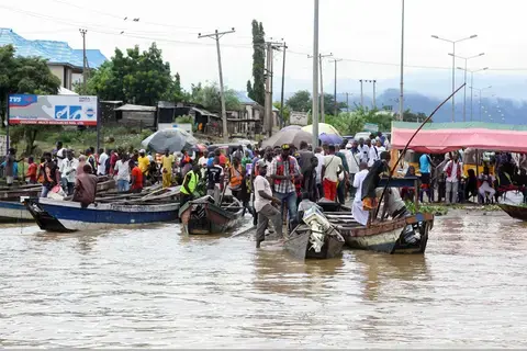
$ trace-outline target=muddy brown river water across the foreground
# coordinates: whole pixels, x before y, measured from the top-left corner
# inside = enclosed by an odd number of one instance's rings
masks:
[[[527,347],[527,225],[501,213],[436,218],[424,256],[253,240],[4,225],[0,347]]]

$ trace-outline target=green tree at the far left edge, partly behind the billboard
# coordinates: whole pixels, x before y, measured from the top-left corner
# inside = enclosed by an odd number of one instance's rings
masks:
[[[11,45],[0,47],[0,99],[2,126],[5,118],[8,95],[12,93],[57,94],[60,79],[55,77],[47,61],[40,57],[15,57]],[[13,128],[11,139],[25,140],[25,154],[33,152],[34,143],[42,126],[22,125]]]

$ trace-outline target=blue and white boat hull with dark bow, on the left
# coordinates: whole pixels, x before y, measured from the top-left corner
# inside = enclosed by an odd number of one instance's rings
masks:
[[[26,200],[25,206],[41,229],[70,233],[108,227],[172,222],[178,218],[179,204],[124,205],[79,203],[49,199]]]

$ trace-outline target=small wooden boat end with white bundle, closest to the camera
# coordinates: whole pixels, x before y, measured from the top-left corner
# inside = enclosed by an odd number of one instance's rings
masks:
[[[343,253],[345,240],[343,236],[334,228],[322,234],[322,247],[317,247],[317,238],[312,228],[301,224],[289,235],[284,242],[284,249],[294,258],[304,259],[330,259]]]

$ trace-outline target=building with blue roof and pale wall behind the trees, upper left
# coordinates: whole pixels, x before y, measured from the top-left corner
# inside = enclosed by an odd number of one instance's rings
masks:
[[[74,83],[82,81],[82,49],[74,49],[66,42],[30,41],[11,29],[0,29],[0,46],[13,45],[23,57],[38,56],[47,59],[52,73],[60,79],[63,88],[72,90]],[[98,68],[106,57],[98,49],[87,49],[89,68]]]

